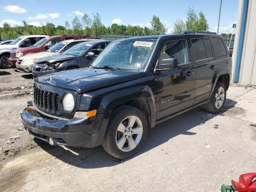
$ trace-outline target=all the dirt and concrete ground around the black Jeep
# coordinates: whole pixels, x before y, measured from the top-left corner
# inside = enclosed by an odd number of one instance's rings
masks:
[[[256,90],[230,86],[221,114],[196,108],[150,129],[136,156],[118,163],[101,146],[50,146],[18,130],[32,76],[0,69],[1,191],[220,191],[255,171]],[[24,87],[24,88],[22,88]],[[18,136],[5,144],[3,139]],[[207,145],[208,144],[208,145]],[[209,147],[206,147],[209,146]]]

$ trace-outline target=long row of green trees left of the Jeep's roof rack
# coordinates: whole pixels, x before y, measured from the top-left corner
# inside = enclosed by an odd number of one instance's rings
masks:
[[[144,36],[144,35],[159,35],[166,34],[167,28],[160,21],[158,16],[152,16],[151,27],[141,27],[132,25],[118,25],[104,26],[101,16],[96,13],[92,14],[92,18],[84,14],[82,19],[77,16],[73,18],[71,23],[65,22],[64,26],[55,26],[53,23],[47,22],[42,26],[29,25],[23,21],[23,26],[11,27],[10,24],[4,23],[0,28],[0,36],[8,38],[16,38],[21,35],[38,35],[46,34],[48,36],[62,35],[62,34],[88,34],[88,35],[128,35],[128,36]]]

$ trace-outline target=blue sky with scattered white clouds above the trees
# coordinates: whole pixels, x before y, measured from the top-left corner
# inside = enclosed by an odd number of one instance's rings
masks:
[[[74,16],[82,18],[85,13],[92,18],[98,12],[105,26],[117,23],[150,27],[150,20],[156,15],[171,33],[177,19],[186,20],[188,7],[194,7],[197,14],[202,11],[210,31],[217,31],[220,0],[8,0],[0,5],[0,26],[4,22],[22,25],[22,20],[35,26],[46,22],[64,26],[66,20],[71,24]],[[238,0],[222,0],[219,33],[232,32],[237,12]]]

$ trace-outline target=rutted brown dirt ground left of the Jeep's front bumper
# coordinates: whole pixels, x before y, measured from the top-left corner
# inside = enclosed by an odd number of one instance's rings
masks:
[[[24,78],[24,75],[26,78]],[[30,77],[31,76],[31,77]],[[20,112],[33,100],[32,75],[15,69],[0,69],[0,163],[38,146],[33,137],[22,130]],[[4,140],[18,136],[13,140]]]

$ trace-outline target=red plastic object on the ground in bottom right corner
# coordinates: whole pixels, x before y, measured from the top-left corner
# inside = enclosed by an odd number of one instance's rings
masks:
[[[232,185],[238,192],[256,192],[256,182],[253,179],[256,178],[256,173],[246,173],[239,177],[239,181],[231,181]]]

